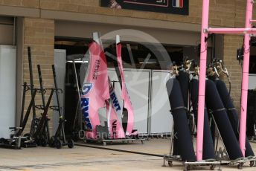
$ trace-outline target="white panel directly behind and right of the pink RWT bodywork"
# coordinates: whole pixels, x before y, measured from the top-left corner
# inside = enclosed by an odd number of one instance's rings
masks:
[[[109,68],[109,77],[110,80],[118,81],[113,68]],[[134,128],[138,129],[139,134],[148,134],[150,70],[124,69],[124,77],[135,112]],[[119,83],[115,83],[115,91],[119,99],[121,99]]]

